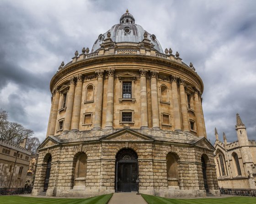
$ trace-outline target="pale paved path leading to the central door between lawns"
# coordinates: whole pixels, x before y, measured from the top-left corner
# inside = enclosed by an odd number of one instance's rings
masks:
[[[136,193],[115,193],[108,204],[147,204],[147,202]]]

